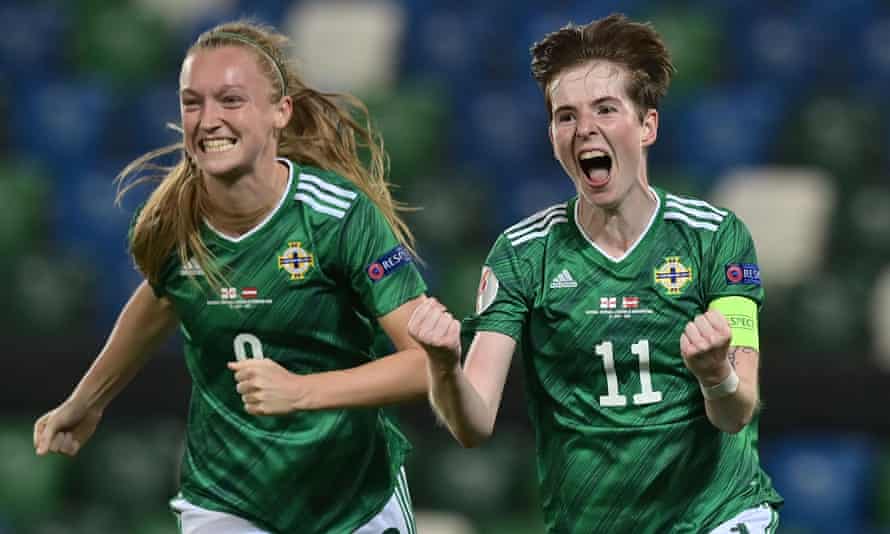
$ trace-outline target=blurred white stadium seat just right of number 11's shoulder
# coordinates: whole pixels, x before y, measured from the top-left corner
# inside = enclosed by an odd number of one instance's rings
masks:
[[[734,170],[710,195],[748,226],[764,285],[779,287],[821,272],[836,197],[824,172],[780,167]]]

